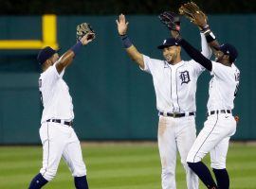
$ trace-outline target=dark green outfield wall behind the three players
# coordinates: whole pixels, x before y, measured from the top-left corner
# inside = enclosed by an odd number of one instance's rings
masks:
[[[75,28],[90,23],[97,38],[82,48],[64,74],[73,97],[75,130],[81,140],[156,140],[157,111],[152,77],[139,70],[120,43],[117,16],[58,16],[57,43],[61,53],[75,41]],[[156,46],[168,37],[157,16],[128,16],[129,36],[137,49],[162,59]],[[209,16],[219,42],[235,44],[241,84],[234,114],[240,123],[234,140],[256,139],[256,15]],[[200,48],[198,29],[184,20],[182,35]],[[1,16],[0,43],[42,39],[41,16]],[[37,49],[0,49],[0,144],[38,144],[41,102]],[[189,60],[183,51],[184,60]],[[198,79],[197,130],[206,119],[210,74]]]

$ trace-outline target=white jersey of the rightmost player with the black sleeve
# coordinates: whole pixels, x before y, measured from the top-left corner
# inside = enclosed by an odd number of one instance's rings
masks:
[[[209,87],[208,111],[232,110],[234,98],[239,85],[240,71],[232,64],[231,67],[211,61],[212,70]]]

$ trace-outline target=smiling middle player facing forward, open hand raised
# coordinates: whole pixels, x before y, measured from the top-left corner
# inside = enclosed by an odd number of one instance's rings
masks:
[[[188,167],[186,158],[196,138],[196,81],[204,67],[194,63],[194,60],[181,60],[181,47],[174,38],[168,38],[158,46],[165,60],[155,60],[141,54],[127,35],[128,23],[125,16],[120,14],[116,22],[121,42],[130,58],[137,62],[141,70],[153,77],[156,108],[159,112],[157,139],[162,165],[162,188],[176,188],[175,165],[178,150],[186,170],[187,187],[197,189],[198,178]],[[202,53],[209,57],[211,51],[203,34],[201,43]]]

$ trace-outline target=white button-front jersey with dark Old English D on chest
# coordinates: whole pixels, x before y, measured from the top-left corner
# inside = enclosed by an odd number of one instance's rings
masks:
[[[153,77],[160,112],[195,112],[196,81],[204,68],[194,60],[172,65],[143,55],[144,71]]]

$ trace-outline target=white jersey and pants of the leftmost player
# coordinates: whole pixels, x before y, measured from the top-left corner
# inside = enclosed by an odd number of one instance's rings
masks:
[[[54,64],[39,78],[44,106],[40,128],[44,153],[40,173],[46,180],[54,178],[62,157],[73,177],[86,175],[80,142],[71,127],[74,119],[72,98],[63,76],[64,71],[59,74]]]

